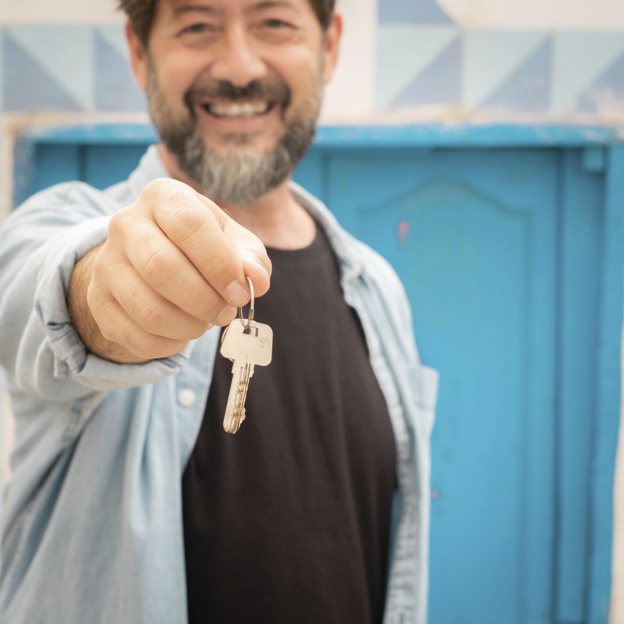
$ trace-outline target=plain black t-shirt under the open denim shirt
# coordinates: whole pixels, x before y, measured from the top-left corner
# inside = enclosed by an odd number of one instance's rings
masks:
[[[182,481],[190,624],[380,624],[396,451],[359,319],[321,228],[269,249],[255,320],[273,328],[246,419],[223,431],[217,354]]]

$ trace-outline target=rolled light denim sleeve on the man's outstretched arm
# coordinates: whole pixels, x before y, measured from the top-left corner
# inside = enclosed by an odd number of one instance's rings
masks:
[[[192,344],[170,358],[113,363],[89,353],[71,324],[74,266],[106,239],[119,208],[68,183],[32,197],[0,231],[0,364],[17,390],[64,401],[160,381],[188,359]]]

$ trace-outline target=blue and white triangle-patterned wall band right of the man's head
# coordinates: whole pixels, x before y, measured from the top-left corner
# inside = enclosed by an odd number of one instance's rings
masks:
[[[380,110],[624,119],[624,29],[462,29],[435,0],[380,0],[377,57]]]

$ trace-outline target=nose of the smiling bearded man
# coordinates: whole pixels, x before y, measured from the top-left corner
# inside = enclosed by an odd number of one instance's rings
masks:
[[[222,50],[210,71],[213,79],[245,87],[252,80],[266,76],[266,65],[251,49],[243,26],[236,24],[228,28],[222,41]]]

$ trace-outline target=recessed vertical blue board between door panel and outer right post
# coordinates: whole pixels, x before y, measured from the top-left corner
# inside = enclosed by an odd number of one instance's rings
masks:
[[[560,155],[557,382],[557,622],[585,621],[588,497],[598,345],[603,175],[587,150]]]

